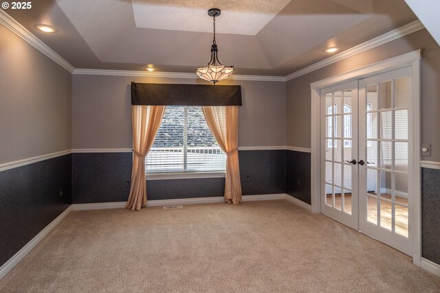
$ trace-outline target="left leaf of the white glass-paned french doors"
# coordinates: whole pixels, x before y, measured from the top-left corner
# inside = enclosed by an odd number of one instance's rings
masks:
[[[358,229],[358,80],[321,90],[321,212]]]

